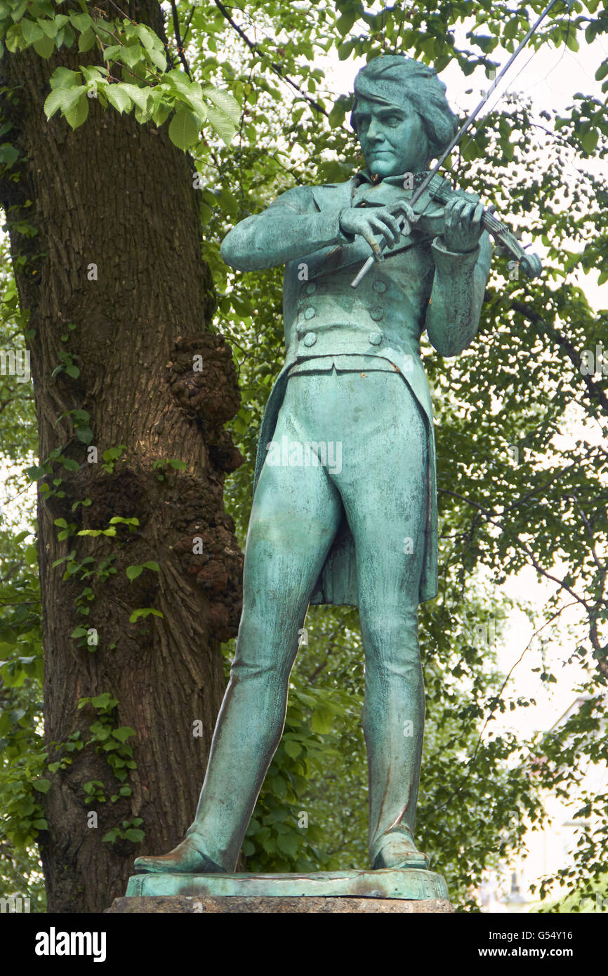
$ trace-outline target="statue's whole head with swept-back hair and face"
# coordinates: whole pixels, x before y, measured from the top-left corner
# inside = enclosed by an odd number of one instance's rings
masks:
[[[380,177],[425,170],[456,132],[436,71],[402,55],[381,55],[361,68],[350,123],[368,169]]]

